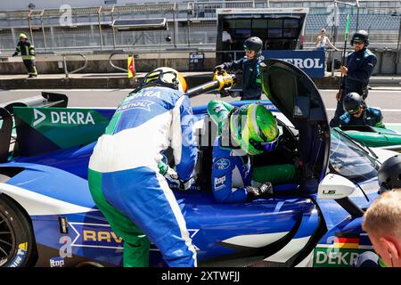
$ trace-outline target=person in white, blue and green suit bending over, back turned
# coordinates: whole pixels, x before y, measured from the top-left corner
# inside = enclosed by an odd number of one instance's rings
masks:
[[[197,146],[185,91],[175,69],[148,73],[119,104],[89,161],[90,191],[124,240],[124,266],[149,265],[149,240],[168,266],[197,265],[184,216],[159,167],[160,151],[171,147],[178,178],[188,188]]]

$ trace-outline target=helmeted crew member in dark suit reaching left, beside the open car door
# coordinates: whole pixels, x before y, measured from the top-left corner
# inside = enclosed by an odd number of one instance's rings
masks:
[[[262,81],[259,63],[265,59],[262,55],[262,46],[263,42],[259,37],[250,37],[243,43],[246,54],[241,60],[225,62],[215,67],[227,71],[242,70],[242,91],[231,92],[232,97],[241,97],[241,100],[260,100]]]

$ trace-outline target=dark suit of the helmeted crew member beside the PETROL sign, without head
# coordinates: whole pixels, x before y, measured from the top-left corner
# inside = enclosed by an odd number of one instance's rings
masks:
[[[225,70],[242,70],[241,100],[260,100],[262,95],[262,79],[260,78],[259,64],[265,58],[259,56],[249,60],[246,56],[239,61],[225,62]]]

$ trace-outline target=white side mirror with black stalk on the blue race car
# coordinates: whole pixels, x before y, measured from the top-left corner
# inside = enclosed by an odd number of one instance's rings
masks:
[[[364,216],[364,210],[349,199],[356,184],[341,175],[328,174],[319,183],[317,199],[334,199],[353,218]]]

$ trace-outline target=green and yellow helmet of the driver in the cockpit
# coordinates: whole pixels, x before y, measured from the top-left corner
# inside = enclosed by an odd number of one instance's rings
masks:
[[[277,146],[277,120],[260,104],[243,105],[230,117],[233,141],[250,155],[273,151]]]

